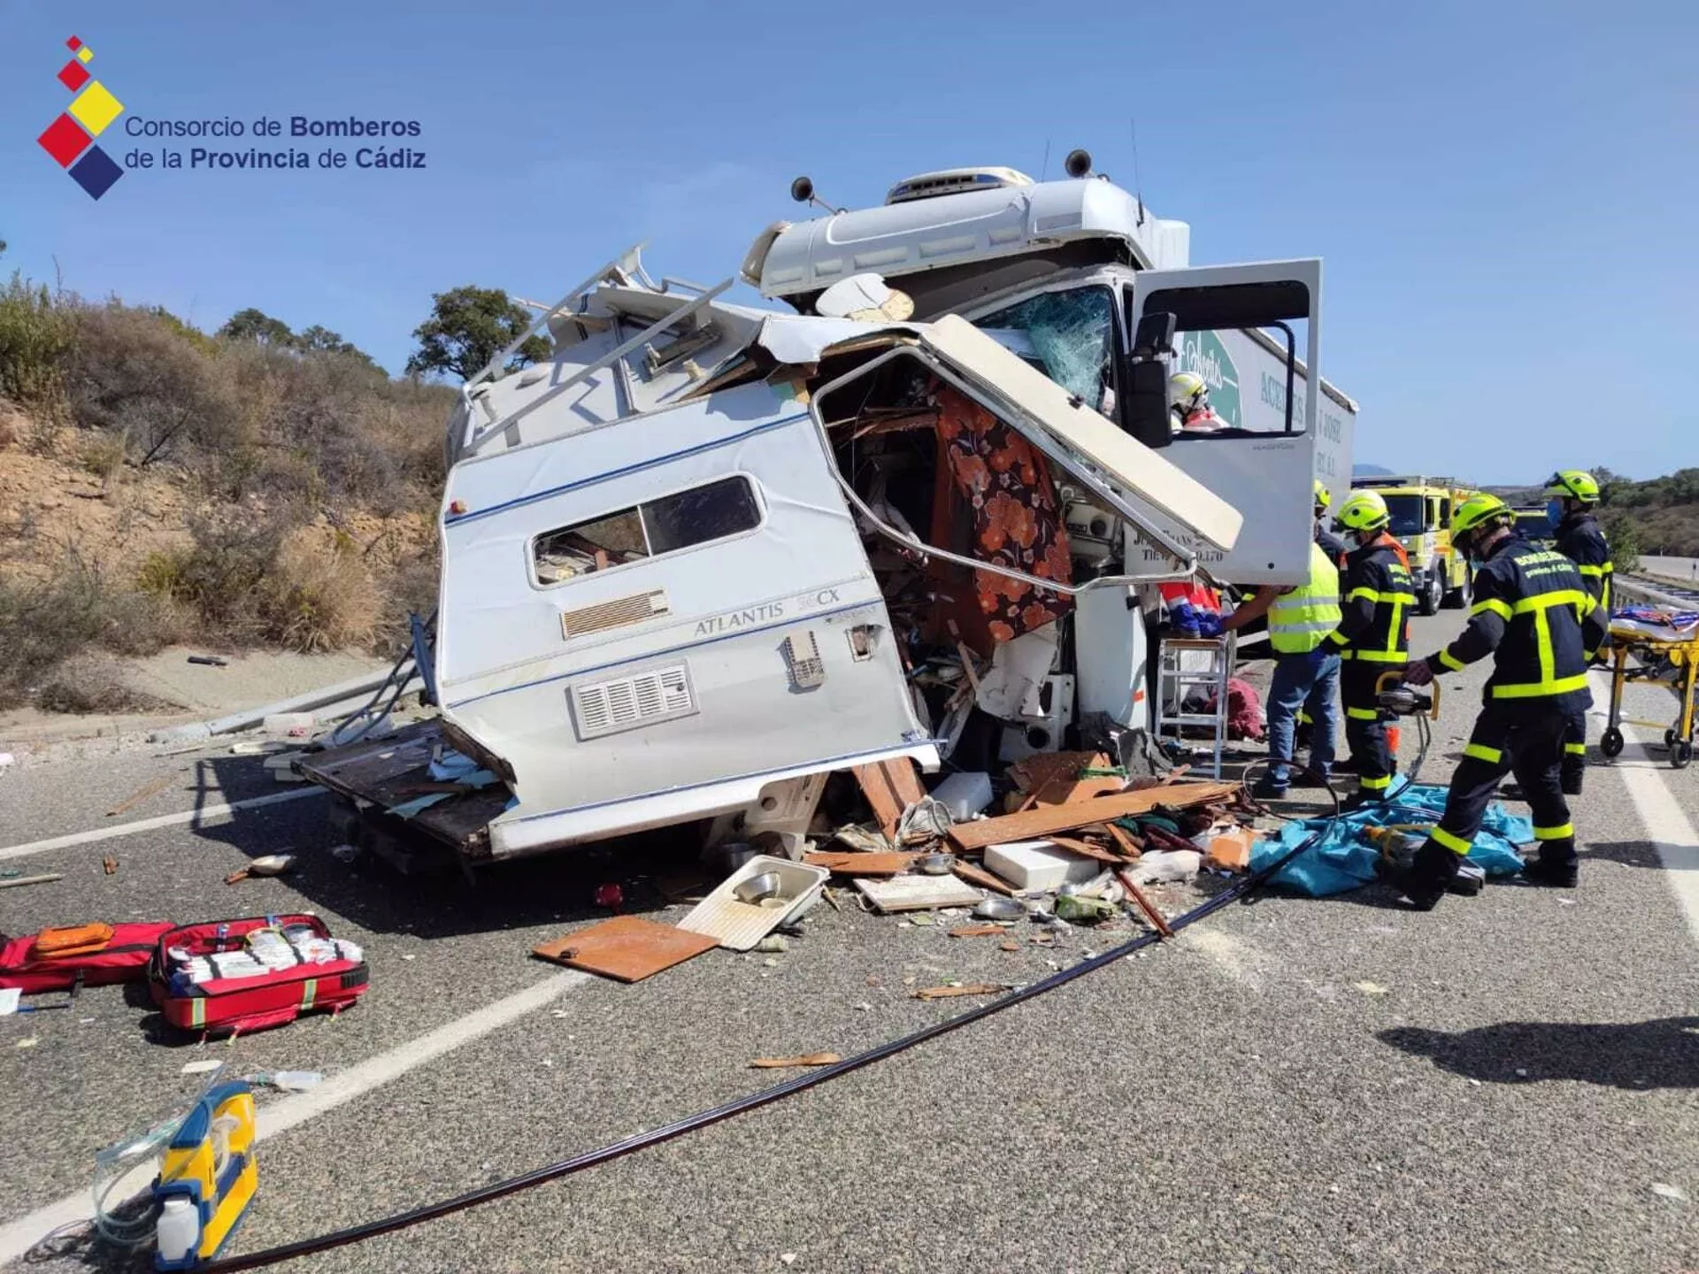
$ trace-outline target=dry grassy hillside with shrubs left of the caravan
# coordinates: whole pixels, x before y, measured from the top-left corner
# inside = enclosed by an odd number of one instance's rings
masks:
[[[437,586],[454,391],[352,350],[0,287],[0,708],[121,712],[110,661],[394,649]]]

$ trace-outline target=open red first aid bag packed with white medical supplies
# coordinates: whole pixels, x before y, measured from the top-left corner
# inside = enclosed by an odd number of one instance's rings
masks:
[[[263,1031],[360,999],[365,953],[311,914],[207,921],[160,934],[148,985],[180,1029]]]

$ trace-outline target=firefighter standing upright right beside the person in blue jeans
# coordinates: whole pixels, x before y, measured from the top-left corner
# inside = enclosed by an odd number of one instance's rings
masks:
[[[1415,589],[1403,545],[1386,533],[1390,515],[1378,491],[1358,491],[1334,518],[1352,547],[1346,554],[1344,601],[1339,627],[1327,647],[1342,661],[1339,690],[1346,705],[1346,742],[1358,773],[1358,792],[1344,809],[1354,810],[1386,798],[1391,786],[1391,749],[1374,681],[1403,668],[1410,657],[1410,610]]]

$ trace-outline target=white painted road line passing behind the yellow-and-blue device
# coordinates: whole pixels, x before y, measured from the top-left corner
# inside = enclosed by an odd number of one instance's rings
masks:
[[[297,1092],[279,1102],[263,1106],[260,1109],[257,1136],[260,1140],[277,1136],[308,1119],[333,1111],[343,1102],[353,1101],[426,1062],[437,1060],[443,1053],[454,1051],[460,1045],[469,1045],[491,1031],[518,1021],[527,1012],[540,1009],[586,982],[590,982],[588,973],[556,973],[506,999],[486,1004],[466,1018],[455,1018],[435,1031],[426,1031],[418,1040],[409,1040],[404,1045],[391,1048],[387,1053],[379,1053],[348,1070],[330,1075],[316,1089]],[[87,1221],[92,1216],[90,1194],[87,1189],[82,1189],[76,1194],[66,1194],[58,1203],[49,1203],[46,1208],[37,1208],[27,1216],[8,1221],[0,1226],[0,1264],[17,1260],[54,1230]]]

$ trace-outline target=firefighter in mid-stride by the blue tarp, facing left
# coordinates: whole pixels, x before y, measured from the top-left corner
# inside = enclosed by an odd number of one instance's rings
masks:
[[[1410,664],[1403,679],[1424,686],[1442,671],[1493,657],[1482,713],[1451,775],[1446,812],[1407,871],[1395,880],[1410,904],[1429,910],[1444,895],[1480,831],[1499,780],[1516,773],[1534,815],[1539,854],[1522,865],[1536,885],[1575,885],[1575,827],[1560,778],[1563,739],[1575,713],[1592,707],[1587,651],[1604,637],[1604,608],[1575,564],[1516,532],[1499,496],[1475,494],[1451,518],[1451,542],[1478,562],[1468,627],[1451,645]]]

